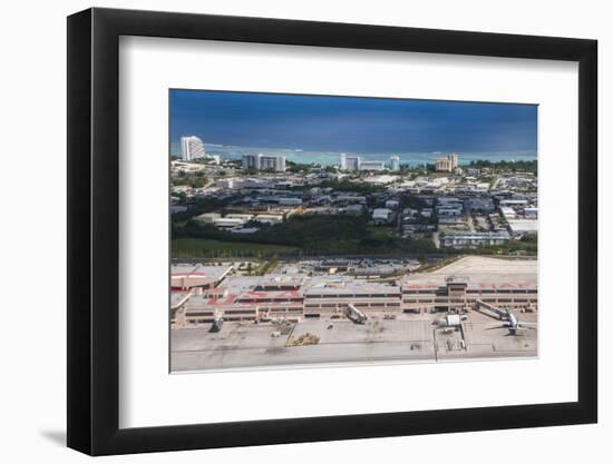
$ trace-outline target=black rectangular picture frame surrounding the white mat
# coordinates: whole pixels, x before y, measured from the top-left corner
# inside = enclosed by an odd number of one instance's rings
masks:
[[[578,62],[578,398],[573,403],[119,428],[120,36]],[[595,423],[597,42],[152,11],[68,18],[68,446],[91,455]]]

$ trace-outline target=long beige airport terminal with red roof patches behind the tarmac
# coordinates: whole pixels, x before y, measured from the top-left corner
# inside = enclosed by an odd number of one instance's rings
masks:
[[[349,304],[366,315],[424,314],[476,309],[489,304],[504,309],[536,310],[534,274],[410,274],[368,282],[351,275],[230,275],[232,266],[173,266],[173,328],[198,327],[215,317],[225,320],[342,317]]]

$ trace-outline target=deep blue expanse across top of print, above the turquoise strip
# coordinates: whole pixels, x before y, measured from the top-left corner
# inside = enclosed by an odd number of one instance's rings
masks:
[[[171,91],[171,140],[327,151],[536,150],[537,107]]]

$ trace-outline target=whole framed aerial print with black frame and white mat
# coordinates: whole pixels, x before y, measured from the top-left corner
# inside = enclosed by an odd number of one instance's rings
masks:
[[[596,42],[68,18],[68,445],[596,422]]]

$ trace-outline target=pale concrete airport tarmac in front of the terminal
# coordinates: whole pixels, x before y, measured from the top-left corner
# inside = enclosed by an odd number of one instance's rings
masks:
[[[517,314],[536,322],[535,313]],[[508,334],[503,322],[471,312],[461,329],[444,330],[441,315],[370,317],[363,325],[349,319],[304,319],[285,325],[253,322],[172,330],[171,371],[206,371],[381,362],[534,357],[537,330]],[[291,346],[302,335],[319,337],[314,345]]]

